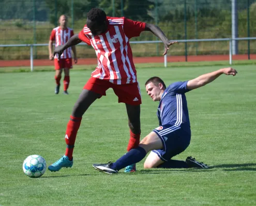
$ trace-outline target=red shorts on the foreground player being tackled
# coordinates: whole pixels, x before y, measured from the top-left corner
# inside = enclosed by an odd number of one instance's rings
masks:
[[[118,102],[129,105],[141,105],[141,92],[138,82],[130,84],[113,84],[107,80],[91,77],[84,85],[84,89],[106,96],[106,91],[112,88],[118,97]]]

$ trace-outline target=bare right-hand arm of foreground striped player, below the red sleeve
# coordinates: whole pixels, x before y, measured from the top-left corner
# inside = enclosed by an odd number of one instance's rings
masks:
[[[154,33],[155,36],[157,36],[159,39],[162,40],[164,47],[165,47],[165,51],[163,53],[163,55],[167,54],[167,50],[169,49],[169,47],[172,44],[175,44],[177,42],[171,42],[163,33],[163,31],[156,25],[154,24],[148,24],[146,23],[145,26],[145,31],[151,31],[152,33]]]

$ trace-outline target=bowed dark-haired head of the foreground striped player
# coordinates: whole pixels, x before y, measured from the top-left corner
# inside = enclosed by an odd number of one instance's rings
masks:
[[[97,8],[89,10],[87,13],[87,27],[91,30],[93,35],[100,35],[108,29],[106,13]]]

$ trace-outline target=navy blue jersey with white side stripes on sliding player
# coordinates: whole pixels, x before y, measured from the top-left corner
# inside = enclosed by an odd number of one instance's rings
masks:
[[[159,102],[157,116],[159,125],[174,125],[190,128],[187,99],[185,96],[188,81],[174,82],[166,88]]]

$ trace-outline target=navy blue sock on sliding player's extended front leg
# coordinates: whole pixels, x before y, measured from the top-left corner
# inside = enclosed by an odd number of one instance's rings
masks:
[[[146,151],[142,147],[137,147],[128,151],[123,157],[113,163],[112,169],[123,169],[126,166],[140,162],[146,156]]]

